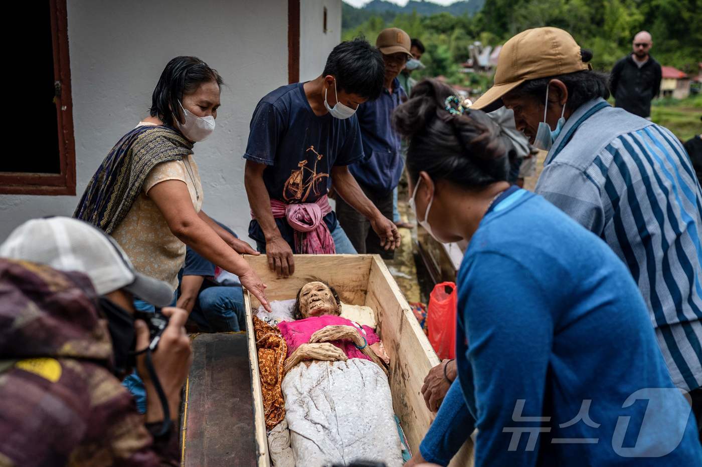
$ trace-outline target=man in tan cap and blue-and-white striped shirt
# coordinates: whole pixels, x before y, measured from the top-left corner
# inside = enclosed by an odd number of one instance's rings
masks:
[[[670,130],[607,103],[607,76],[591,58],[561,29],[519,33],[501,50],[495,86],[470,109],[504,104],[517,130],[548,151],[534,191],[628,266],[673,383],[689,392],[702,426],[702,318],[691,312],[702,302],[702,191]]]

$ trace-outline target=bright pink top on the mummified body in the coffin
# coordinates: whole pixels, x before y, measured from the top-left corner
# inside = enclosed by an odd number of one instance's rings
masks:
[[[283,334],[285,343],[288,344],[288,356],[290,356],[290,354],[296,351],[299,346],[309,343],[310,337],[312,337],[314,332],[319,331],[325,326],[336,325],[355,327],[359,334],[366,338],[366,342],[368,342],[369,346],[380,341],[378,334],[376,334],[376,332],[370,327],[361,326],[359,328],[360,325],[355,323],[355,321],[333,315],[310,316],[310,318],[297,321],[282,321],[281,323],[278,323],[278,329],[280,330],[281,334]],[[343,350],[348,358],[363,358],[364,360],[371,360],[362,351],[359,351],[359,349],[356,348],[350,339],[340,339],[338,341],[331,342],[331,344],[334,344]]]

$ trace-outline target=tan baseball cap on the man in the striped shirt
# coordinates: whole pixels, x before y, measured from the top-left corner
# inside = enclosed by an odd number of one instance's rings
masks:
[[[592,69],[583,62],[573,36],[557,27],[527,29],[512,37],[500,51],[495,84],[471,109],[493,111],[502,107],[502,96],[529,79]]]

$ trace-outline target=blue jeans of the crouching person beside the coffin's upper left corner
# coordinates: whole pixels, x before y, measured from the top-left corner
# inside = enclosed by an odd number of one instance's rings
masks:
[[[200,289],[190,318],[204,332],[236,332],[246,329],[241,287],[213,286]]]

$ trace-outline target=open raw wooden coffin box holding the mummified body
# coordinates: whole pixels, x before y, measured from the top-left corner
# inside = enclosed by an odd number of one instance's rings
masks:
[[[424,377],[439,364],[439,359],[413,316],[409,305],[378,255],[295,255],[295,276],[277,278],[268,269],[265,256],[247,256],[263,282],[268,286],[269,300],[295,298],[300,287],[310,280],[322,279],[336,288],[340,299],[349,304],[370,306],[376,312],[378,335],[390,356],[390,390],[395,414],[409,442],[411,452],[418,452],[419,443],[434,417],[421,395]],[[252,310],[260,305],[256,297],[244,293],[246,326],[253,330]],[[249,337],[249,364],[253,390],[253,415],[256,422],[258,466],[270,466],[263,414],[258,351],[253,332]],[[451,466],[469,466],[472,452],[468,440]]]

